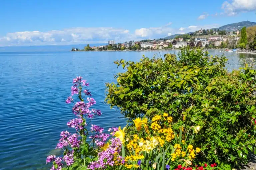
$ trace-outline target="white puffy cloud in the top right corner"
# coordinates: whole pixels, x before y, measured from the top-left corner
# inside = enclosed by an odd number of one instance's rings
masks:
[[[239,12],[256,11],[256,0],[232,0],[223,2],[222,9],[228,16],[236,15]]]

